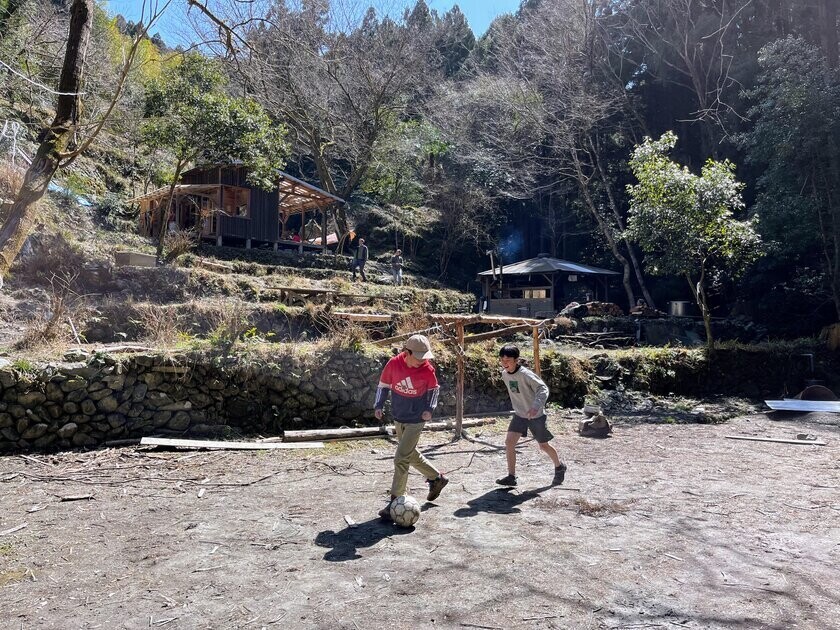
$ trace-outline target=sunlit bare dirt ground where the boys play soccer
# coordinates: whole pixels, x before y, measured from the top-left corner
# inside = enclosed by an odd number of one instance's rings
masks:
[[[533,442],[506,491],[501,451],[427,434],[452,483],[412,529],[375,518],[385,440],[0,458],[0,627],[840,627],[840,417],[576,420],[561,488]],[[725,437],[799,433],[827,445]]]

